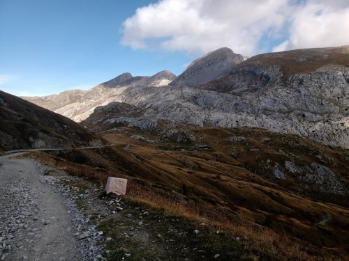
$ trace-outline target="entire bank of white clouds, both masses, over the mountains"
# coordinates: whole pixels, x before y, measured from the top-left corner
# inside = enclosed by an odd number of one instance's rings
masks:
[[[195,54],[230,47],[251,56],[281,38],[274,51],[348,45],[349,1],[161,0],[138,8],[122,30],[133,49]]]

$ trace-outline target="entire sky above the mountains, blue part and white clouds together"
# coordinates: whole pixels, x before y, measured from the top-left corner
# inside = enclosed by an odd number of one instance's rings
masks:
[[[180,74],[220,47],[253,56],[349,45],[349,0],[0,0],[0,90],[88,89]]]

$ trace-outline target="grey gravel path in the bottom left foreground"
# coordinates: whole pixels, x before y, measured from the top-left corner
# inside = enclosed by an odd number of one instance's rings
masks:
[[[33,159],[0,157],[0,260],[103,259],[101,235],[43,171]]]

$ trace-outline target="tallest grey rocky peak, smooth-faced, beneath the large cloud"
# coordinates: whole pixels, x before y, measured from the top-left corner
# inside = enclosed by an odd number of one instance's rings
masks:
[[[170,85],[195,86],[206,84],[225,76],[242,61],[244,61],[243,56],[235,54],[227,47],[223,47],[193,61]]]

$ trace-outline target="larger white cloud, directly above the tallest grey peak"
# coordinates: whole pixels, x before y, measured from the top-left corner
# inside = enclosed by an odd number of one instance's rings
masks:
[[[198,54],[230,47],[251,55],[263,35],[278,35],[288,13],[287,0],[162,0],[126,19],[121,43]]]

